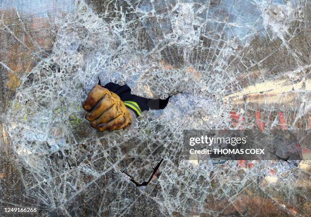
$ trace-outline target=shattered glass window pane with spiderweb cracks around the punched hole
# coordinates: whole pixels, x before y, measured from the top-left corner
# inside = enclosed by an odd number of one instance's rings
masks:
[[[310,216],[304,160],[182,157],[187,129],[311,128],[311,2],[0,2],[0,206],[40,216]],[[166,99],[97,132],[81,102]],[[2,215],[2,213],[0,213]]]

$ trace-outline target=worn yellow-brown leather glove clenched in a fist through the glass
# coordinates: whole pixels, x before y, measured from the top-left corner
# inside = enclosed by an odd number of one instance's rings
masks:
[[[123,129],[131,125],[132,116],[118,95],[96,85],[88,93],[82,107],[88,113],[85,118],[98,131]]]

